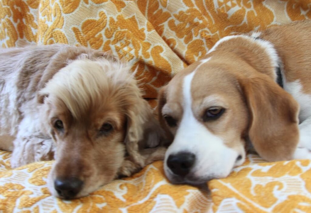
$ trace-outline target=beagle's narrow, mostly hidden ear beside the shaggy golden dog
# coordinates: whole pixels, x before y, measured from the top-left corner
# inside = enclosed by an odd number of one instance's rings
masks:
[[[165,135],[166,135],[167,139],[169,141],[173,141],[174,135],[169,131],[167,124],[163,118],[163,114],[162,114],[162,108],[166,104],[166,89],[167,89],[167,86],[162,87],[159,91],[159,95],[158,95],[159,103],[158,103],[158,107],[157,107],[158,120],[160,122],[162,129],[165,131]]]

